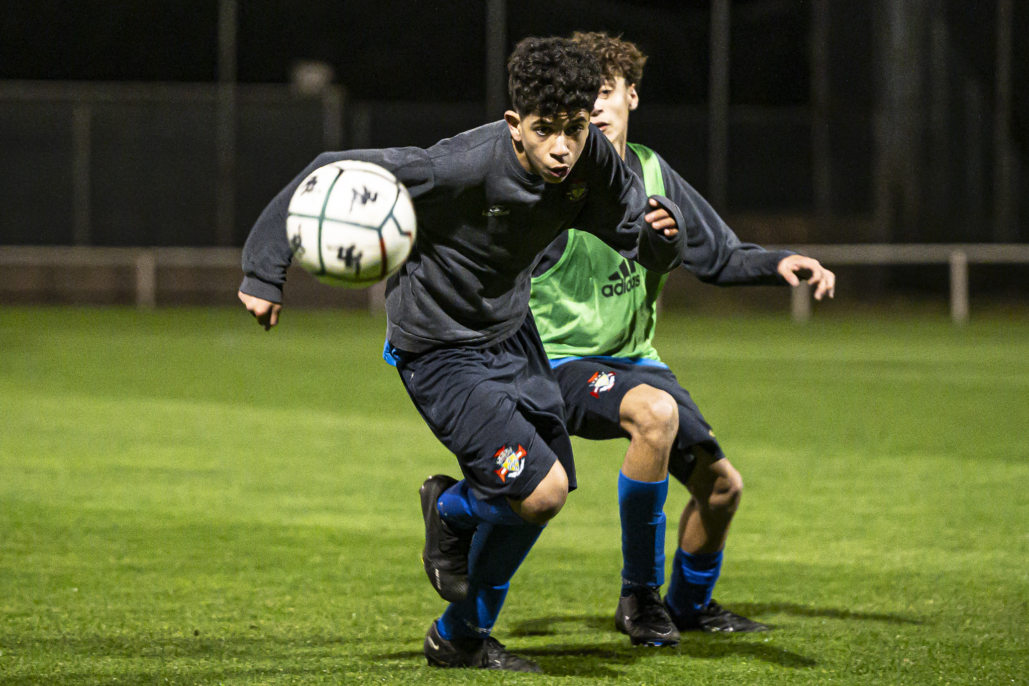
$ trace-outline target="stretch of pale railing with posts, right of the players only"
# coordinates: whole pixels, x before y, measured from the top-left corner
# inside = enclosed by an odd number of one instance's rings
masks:
[[[886,264],[950,264],[951,319],[968,321],[968,264],[1029,264],[1029,244],[1024,243],[914,243],[866,245],[779,246],[814,257],[826,266]],[[792,289],[793,319],[811,317],[811,288],[801,283]]]

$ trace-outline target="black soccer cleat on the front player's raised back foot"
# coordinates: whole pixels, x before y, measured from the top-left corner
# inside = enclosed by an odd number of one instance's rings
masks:
[[[449,603],[458,603],[468,595],[468,551],[475,530],[455,530],[442,517],[436,501],[443,491],[457,483],[446,474],[426,479],[418,495],[422,498],[422,516],[425,517],[425,549],[422,564],[429,583],[439,597]]]

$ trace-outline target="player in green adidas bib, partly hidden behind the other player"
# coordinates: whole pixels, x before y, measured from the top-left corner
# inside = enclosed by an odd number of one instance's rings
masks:
[[[682,210],[682,266],[705,283],[800,283],[810,272],[815,298],[832,297],[836,277],[818,261],[741,243],[708,203],[654,151],[627,143],[646,58],[603,33],[572,39],[596,57],[604,84],[591,115],[648,194]],[[533,272],[531,308],[565,400],[568,432],[629,438],[618,473],[622,593],[615,625],[633,645],[676,645],[682,630],[758,631],[768,627],[719,606],[711,594],[743,481],[689,394],[661,361],[652,340],[665,276],[623,258],[570,228]],[[689,491],[664,601],[668,475]]]

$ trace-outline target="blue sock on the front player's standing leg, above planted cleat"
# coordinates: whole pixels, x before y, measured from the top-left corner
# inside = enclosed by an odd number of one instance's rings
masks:
[[[507,597],[510,578],[542,531],[543,527],[529,522],[517,527],[486,523],[475,530],[468,554],[468,597],[451,603],[436,620],[439,636],[452,641],[490,635]]]

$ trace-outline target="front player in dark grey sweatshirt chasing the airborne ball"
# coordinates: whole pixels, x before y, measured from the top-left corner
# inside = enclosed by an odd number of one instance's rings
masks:
[[[590,125],[600,88],[591,53],[529,38],[509,64],[513,110],[428,149],[323,153],[264,210],[247,239],[240,298],[276,324],[290,261],[289,200],[339,159],[380,165],[418,215],[411,257],[387,284],[384,357],[457,456],[464,478],[420,491],[425,571],[450,607],[429,626],[430,664],[539,672],[490,631],[508,581],[575,488],[564,402],[529,312],[539,253],[573,222],[655,273],[680,260],[681,214]]]

